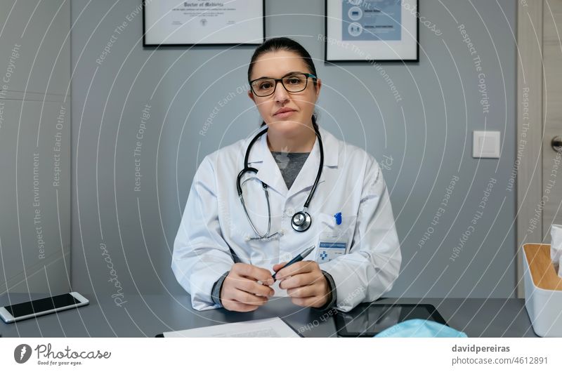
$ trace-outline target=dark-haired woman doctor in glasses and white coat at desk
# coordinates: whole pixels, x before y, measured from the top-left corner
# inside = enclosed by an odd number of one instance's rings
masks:
[[[376,300],[401,261],[377,161],[318,126],[322,82],[296,41],[256,48],[248,81],[262,127],[203,159],[174,242],[171,267],[192,307],[249,312],[285,294],[347,312]]]

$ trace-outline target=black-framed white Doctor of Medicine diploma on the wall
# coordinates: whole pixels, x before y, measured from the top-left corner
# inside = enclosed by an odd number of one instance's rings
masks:
[[[265,0],[143,4],[143,46],[257,45],[265,38]]]

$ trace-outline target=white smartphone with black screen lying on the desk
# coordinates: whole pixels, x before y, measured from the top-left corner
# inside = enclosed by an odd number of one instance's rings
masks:
[[[39,300],[18,303],[0,307],[0,317],[6,323],[13,323],[23,319],[40,317],[41,315],[60,312],[88,305],[89,300],[78,292],[55,295],[53,297],[41,298]]]

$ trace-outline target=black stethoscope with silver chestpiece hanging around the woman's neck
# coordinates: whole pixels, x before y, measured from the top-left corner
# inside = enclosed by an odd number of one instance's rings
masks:
[[[314,185],[312,187],[312,190],[311,190],[310,194],[308,194],[308,199],[306,199],[306,202],[304,203],[303,210],[300,211],[300,212],[294,213],[293,217],[291,218],[291,226],[293,227],[293,229],[295,231],[298,231],[298,232],[304,232],[304,231],[308,230],[309,227],[311,227],[312,218],[311,218],[311,215],[308,213],[308,205],[311,204],[311,200],[312,200],[312,197],[314,195],[314,192],[316,191],[316,187],[318,187],[320,175],[322,174],[322,166],[324,165],[324,147],[322,146],[322,138],[320,137],[320,132],[318,131],[318,128],[315,125],[314,119],[313,119],[313,128],[314,128],[314,132],[316,133],[316,137],[318,137],[318,145],[320,147],[320,166],[318,166],[318,174],[316,175],[316,179],[314,181]],[[270,204],[269,204],[268,185],[266,185],[264,182],[261,182],[261,187],[263,187],[263,191],[266,193],[266,200],[267,200],[267,204],[268,204],[268,231],[265,234],[260,234],[258,232],[258,230],[256,229],[256,226],[254,226],[254,222],[251,222],[251,218],[250,218],[250,216],[248,214],[248,211],[246,209],[246,204],[244,203],[244,197],[242,195],[242,185],[244,185],[244,183],[247,182],[248,180],[251,180],[251,178],[247,178],[247,180],[244,180],[244,182],[242,182],[242,184],[240,184],[240,180],[242,179],[242,176],[245,173],[247,173],[247,172],[258,173],[258,170],[256,168],[251,168],[251,167],[248,166],[248,158],[249,158],[251,147],[254,145],[254,142],[256,142],[256,140],[258,140],[258,138],[260,138],[261,135],[263,135],[267,131],[268,131],[268,128],[263,129],[263,131],[258,133],[250,141],[250,143],[248,145],[248,149],[246,150],[246,157],[244,157],[244,169],[242,169],[242,171],[240,171],[240,173],[238,173],[238,177],[236,178],[236,189],[238,191],[238,197],[240,198],[240,202],[242,203],[242,208],[244,208],[244,214],[246,214],[246,217],[248,218],[248,222],[249,222],[251,228],[258,235],[258,237],[247,238],[247,240],[271,239],[273,237],[276,237],[277,235],[282,234],[282,232],[275,232],[275,234],[269,234],[270,229],[271,229],[271,208],[270,208]]]

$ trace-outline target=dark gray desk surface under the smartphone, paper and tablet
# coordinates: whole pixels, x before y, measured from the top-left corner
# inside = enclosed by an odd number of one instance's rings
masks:
[[[81,293],[90,304],[12,324],[0,320],[3,337],[154,337],[157,333],[214,326],[221,323],[280,317],[305,337],[336,337],[334,317],[327,312],[293,305],[289,298],[272,298],[259,310],[192,310],[188,295],[126,295],[118,307],[110,296]],[[32,299],[44,295],[34,295]],[[0,306],[30,300],[29,295],[0,296]],[[536,337],[525,301],[519,298],[384,298],[377,303],[430,303],[445,321],[469,337]],[[333,312],[333,311],[332,311]]]

